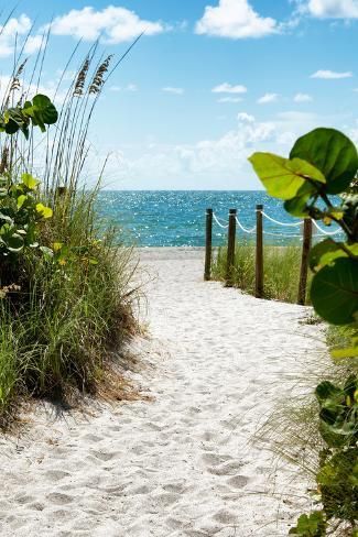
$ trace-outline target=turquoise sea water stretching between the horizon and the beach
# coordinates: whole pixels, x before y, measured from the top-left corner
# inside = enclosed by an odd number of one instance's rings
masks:
[[[236,208],[242,224],[256,223],[256,205],[263,204],[264,211],[283,222],[293,222],[282,208],[282,201],[263,191],[238,190],[183,190],[183,191],[101,191],[98,212],[106,222],[121,231],[119,240],[139,246],[203,246],[205,244],[205,211],[213,208],[220,220],[227,220],[228,210]],[[272,233],[297,234],[300,228],[282,228],[264,220],[264,230]],[[214,224],[213,242],[223,244],[226,230]],[[238,239],[254,239],[238,230]],[[265,235],[273,244],[299,242],[294,237]]]

